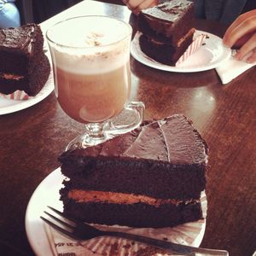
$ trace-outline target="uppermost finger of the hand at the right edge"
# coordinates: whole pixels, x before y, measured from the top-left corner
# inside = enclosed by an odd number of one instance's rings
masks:
[[[232,47],[236,42],[256,29],[256,9],[240,15],[227,29],[224,34],[223,42],[226,46]],[[243,41],[251,37],[247,36]],[[244,42],[242,42],[244,43]]]

